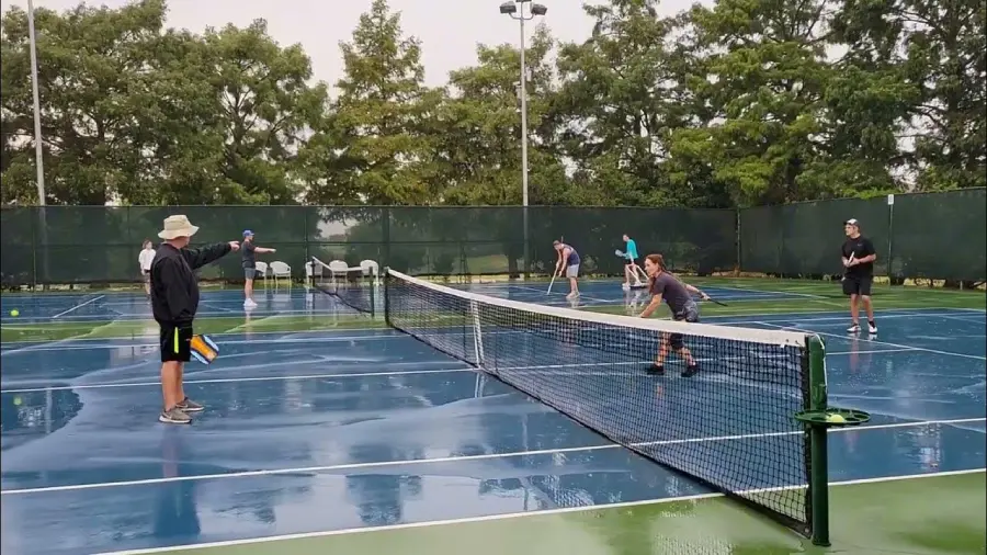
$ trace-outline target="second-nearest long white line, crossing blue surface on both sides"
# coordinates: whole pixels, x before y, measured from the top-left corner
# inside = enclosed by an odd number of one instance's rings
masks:
[[[892,430],[898,428],[922,428],[927,426],[951,426],[957,423],[972,423],[972,422],[980,422],[987,421],[987,418],[955,418],[949,420],[924,420],[919,422],[893,422],[887,424],[875,424],[875,426],[858,426],[858,427],[844,427],[844,428],[830,428],[829,433],[847,433],[851,431],[880,431],[880,430]],[[661,440],[661,441],[647,441],[639,443],[631,443],[632,448],[645,448],[645,446],[655,446],[655,445],[680,445],[688,443],[710,443],[717,441],[744,441],[744,440],[757,440],[763,438],[779,438],[785,435],[801,435],[805,433],[802,430],[789,430],[783,432],[763,432],[763,433],[745,433],[745,434],[736,434],[736,435],[719,435],[719,437],[711,437],[711,438],[685,438],[680,440]],[[240,472],[230,472],[230,473],[219,473],[219,474],[202,474],[196,476],[172,476],[166,478],[144,478],[144,479],[135,479],[135,480],[121,480],[121,482],[103,482],[103,483],[89,483],[89,484],[66,484],[61,486],[46,486],[38,488],[21,488],[21,489],[4,489],[0,491],[0,495],[3,496],[13,496],[13,495],[32,495],[32,494],[49,494],[57,491],[79,491],[87,489],[104,489],[104,488],[117,488],[117,487],[129,487],[129,486],[147,486],[154,484],[171,484],[177,482],[197,482],[197,480],[211,480],[211,479],[229,479],[229,478],[250,478],[258,476],[280,476],[285,474],[303,474],[303,473],[328,473],[328,472],[337,472],[337,471],[354,471],[354,469],[365,469],[365,468],[382,468],[387,466],[405,466],[405,465],[428,465],[428,464],[442,464],[442,463],[468,463],[474,461],[487,461],[491,458],[508,458],[515,456],[538,456],[538,455],[553,455],[556,453],[579,453],[586,451],[603,451],[603,450],[615,450],[615,449],[627,449],[626,446],[620,443],[601,443],[598,445],[587,445],[580,448],[561,448],[561,449],[541,449],[533,451],[517,451],[510,453],[484,453],[479,455],[465,455],[465,456],[439,456],[434,458],[411,458],[406,461],[377,461],[377,462],[367,462],[367,463],[343,463],[343,464],[334,464],[334,465],[319,465],[319,466],[304,466],[298,468],[268,468],[261,471],[240,471]],[[633,453],[633,452],[631,452]],[[639,456],[639,455],[638,455]],[[658,464],[658,463],[656,463]],[[666,467],[665,465],[660,465]],[[767,488],[758,488],[757,490],[751,491],[774,491],[774,490],[783,490],[790,488],[796,488],[799,486],[776,486],[776,487],[767,487]]]

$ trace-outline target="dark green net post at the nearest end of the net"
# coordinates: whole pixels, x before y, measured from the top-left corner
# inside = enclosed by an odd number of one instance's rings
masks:
[[[825,412],[829,404],[826,392],[826,347],[819,336],[809,338],[809,409]],[[812,473],[809,499],[813,511],[813,543],[829,545],[829,453],[825,424],[809,423]]]

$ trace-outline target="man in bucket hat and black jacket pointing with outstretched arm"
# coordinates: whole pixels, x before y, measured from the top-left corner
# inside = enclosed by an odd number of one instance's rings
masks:
[[[192,320],[198,309],[198,281],[193,272],[240,248],[239,242],[229,241],[190,249],[189,241],[196,231],[198,227],[185,216],[164,218],[164,229],[158,234],[164,242],[158,247],[151,262],[151,309],[161,327],[161,392],[164,396],[164,410],[158,420],[167,423],[190,423],[189,412],[203,409],[185,396],[182,387],[182,373],[192,358]]]

